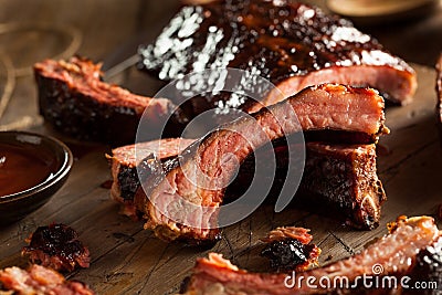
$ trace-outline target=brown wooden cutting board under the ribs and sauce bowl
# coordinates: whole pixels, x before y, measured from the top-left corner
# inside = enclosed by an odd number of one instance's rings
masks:
[[[265,270],[266,261],[259,256],[259,239],[278,225],[312,229],[314,242],[323,250],[320,264],[325,264],[361,250],[385,234],[386,223],[398,215],[435,215],[442,203],[435,72],[414,67],[419,88],[413,103],[387,110],[391,134],[380,140],[378,169],[388,201],[382,208],[381,225],[373,231],[356,231],[336,220],[296,209],[274,213],[272,206],[263,206],[250,218],[224,229],[222,240],[210,250],[167,244],[143,230],[141,222],[118,214],[109,190],[102,186],[110,178],[104,157],[108,148],[63,138],[76,157],[72,175],[49,203],[1,229],[0,267],[25,266],[28,262],[20,257],[24,239],[39,225],[63,222],[78,231],[92,255],[91,267],[70,278],[86,282],[97,294],[170,294],[179,289],[196,259],[210,251],[222,253],[240,267]],[[49,133],[44,126],[38,130]]]

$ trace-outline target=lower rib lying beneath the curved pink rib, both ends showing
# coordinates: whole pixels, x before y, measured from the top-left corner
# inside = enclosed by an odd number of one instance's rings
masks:
[[[134,196],[140,186],[138,165],[143,166],[139,171],[147,178],[156,172],[157,165],[152,165],[152,160],[161,161],[165,169],[165,164],[193,141],[194,139],[167,138],[113,149],[112,155],[107,156],[113,178],[110,196],[122,204],[120,212],[133,219],[138,218],[134,206]],[[136,159],[136,148],[143,160]],[[278,194],[287,176],[288,148],[286,145],[270,148],[272,150],[266,150],[269,158],[261,157],[259,162],[252,157],[244,160],[235,180],[227,189],[227,197],[234,199],[244,192],[253,180],[255,165],[260,167],[260,171],[272,169],[266,165],[273,152],[276,157],[276,173],[269,196]],[[387,199],[377,176],[376,145],[306,143],[305,148],[304,173],[296,200],[303,202],[303,206],[306,203],[308,210],[334,209],[335,217],[356,228],[376,228],[380,218],[380,206]]]

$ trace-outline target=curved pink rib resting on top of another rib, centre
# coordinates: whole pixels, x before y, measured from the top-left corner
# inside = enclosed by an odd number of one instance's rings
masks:
[[[158,236],[213,240],[219,234],[218,210],[224,187],[233,178],[236,164],[251,152],[303,130],[339,129],[377,138],[386,130],[383,120],[383,99],[373,89],[336,84],[307,87],[192,144],[168,164],[165,172],[144,182],[135,203],[145,213],[145,228]]]

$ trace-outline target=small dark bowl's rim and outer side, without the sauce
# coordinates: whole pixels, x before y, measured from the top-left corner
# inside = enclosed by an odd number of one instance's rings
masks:
[[[24,218],[46,203],[66,181],[73,165],[73,156],[62,141],[25,131],[0,131],[0,144],[31,149],[35,157],[45,155],[51,158],[52,165],[52,173],[42,182],[20,192],[0,196],[0,225],[3,225]]]

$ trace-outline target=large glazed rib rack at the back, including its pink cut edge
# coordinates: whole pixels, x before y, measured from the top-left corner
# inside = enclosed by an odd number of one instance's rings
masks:
[[[186,6],[152,44],[139,48],[139,55],[138,67],[162,81],[227,67],[262,76],[282,95],[248,75],[234,88],[262,87],[264,97],[260,99],[265,106],[322,83],[370,86],[401,104],[410,102],[417,88],[413,69],[355,29],[350,21],[287,0],[225,0]],[[210,83],[212,75],[201,75],[186,91],[199,93],[199,82],[204,78],[209,85],[223,81],[220,75]],[[249,113],[261,107],[245,96],[225,93],[206,94],[192,102],[197,115],[204,104],[206,108],[232,107]]]

